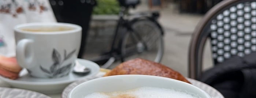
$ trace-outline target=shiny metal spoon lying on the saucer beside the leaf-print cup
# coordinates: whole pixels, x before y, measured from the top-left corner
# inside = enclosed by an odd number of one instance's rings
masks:
[[[90,73],[90,69],[81,65],[78,61],[75,62],[75,67],[73,68],[73,73],[77,75],[86,75]]]

